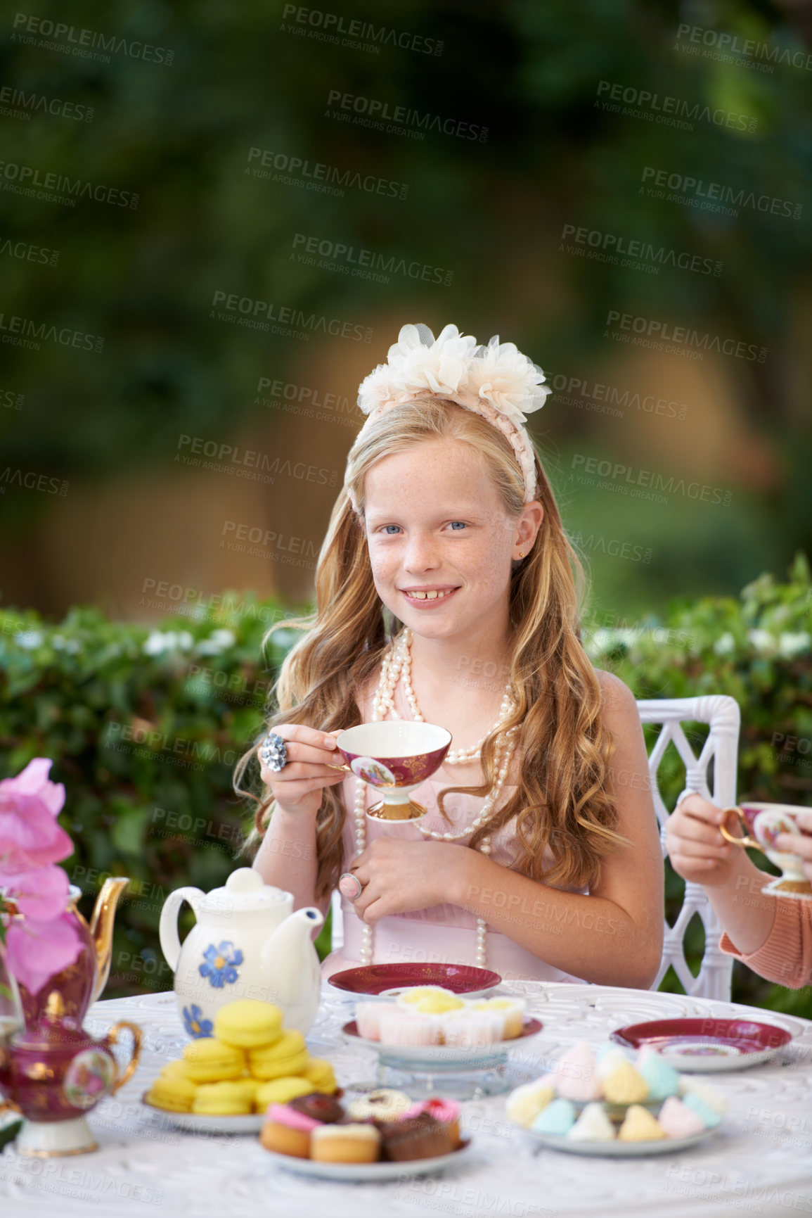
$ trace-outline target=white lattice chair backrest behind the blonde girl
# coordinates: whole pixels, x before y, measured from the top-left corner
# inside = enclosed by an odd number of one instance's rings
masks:
[[[666,857],[665,827],[670,811],[657,783],[657,771],[670,743],[673,743],[685,766],[685,789],[696,790],[721,808],[735,804],[737,755],[739,747],[739,705],[727,694],[705,694],[699,698],[663,698],[638,702],[643,723],[660,723],[662,731],[649,755],[651,795],[660,823],[662,855]],[[696,756],[683,731],[684,722],[707,723],[709,734]],[[709,766],[713,761],[713,787],[709,786]],[[694,977],[684,951],[684,937],[694,914],[705,926],[705,952],[699,976]],[[685,993],[694,998],[729,1001],[733,959],[718,948],[722,926],[700,884],[687,883],[679,916],[673,926],[666,921],[662,961],[651,989],[657,989],[671,965]]]

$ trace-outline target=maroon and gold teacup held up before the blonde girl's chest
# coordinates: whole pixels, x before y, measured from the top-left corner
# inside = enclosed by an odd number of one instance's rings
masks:
[[[426,815],[410,793],[437,770],[448,753],[452,733],[435,723],[397,719],[348,727],[336,737],[345,759],[337,770],[351,770],[382,799],[366,815],[385,821],[411,821]]]

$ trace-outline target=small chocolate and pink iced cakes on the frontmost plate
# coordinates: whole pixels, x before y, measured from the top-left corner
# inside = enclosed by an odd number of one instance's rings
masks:
[[[461,1145],[459,1104],[413,1104],[402,1091],[373,1091],[347,1105],[325,1095],[273,1104],[259,1134],[278,1155],[327,1163],[409,1162],[449,1155]]]

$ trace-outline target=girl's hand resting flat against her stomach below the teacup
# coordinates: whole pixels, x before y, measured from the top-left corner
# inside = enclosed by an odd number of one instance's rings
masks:
[[[466,853],[447,842],[376,838],[351,867],[364,885],[353,901],[355,914],[374,926],[391,914],[411,914],[441,904],[450,887],[449,868],[464,862]]]

